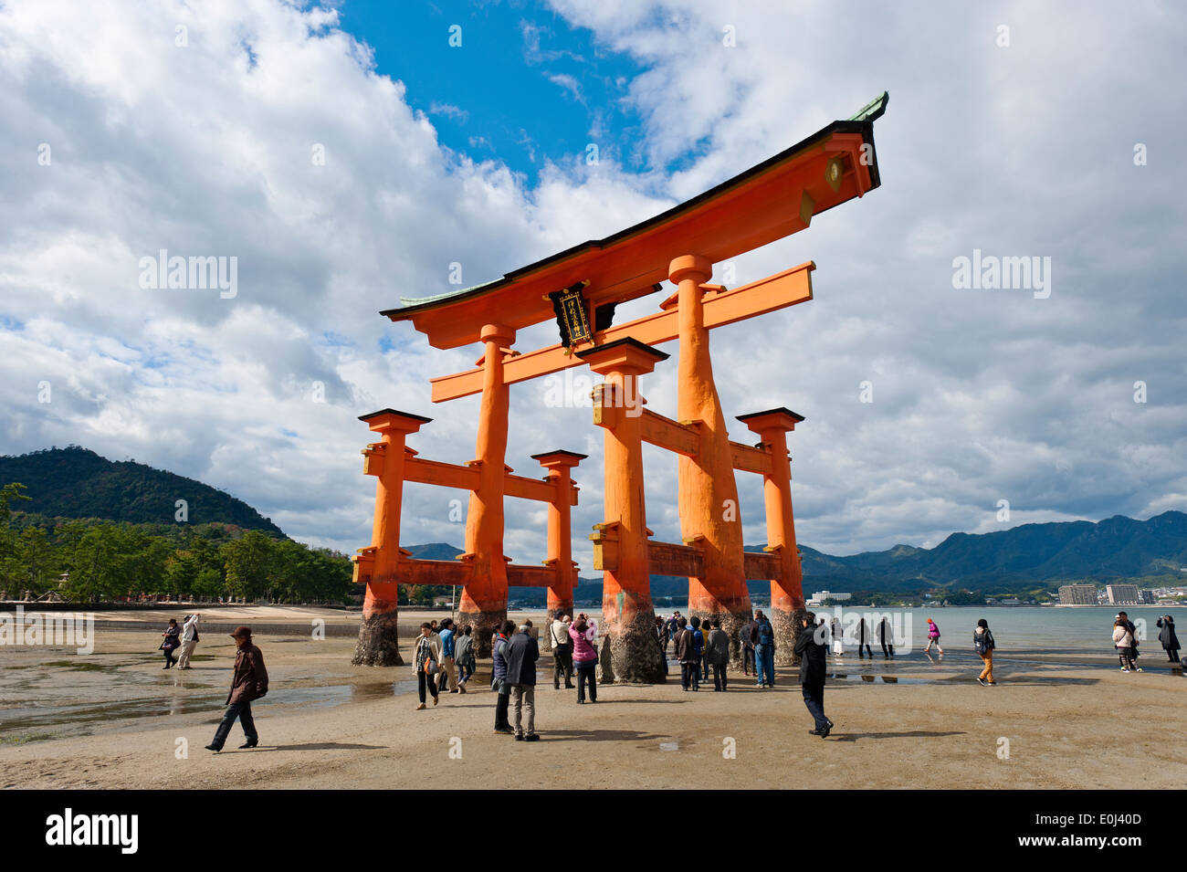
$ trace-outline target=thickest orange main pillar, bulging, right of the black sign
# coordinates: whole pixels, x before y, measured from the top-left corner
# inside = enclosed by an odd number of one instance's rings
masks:
[[[730,637],[730,660],[742,662],[738,634],[750,620],[745,586],[742,517],[730,438],[725,429],[713,364],[709,357],[703,287],[713,273],[705,257],[685,255],[668,267],[678,286],[680,367],[678,418],[700,422],[700,450],[679,460],[680,530],[686,545],[698,542],[704,575],[688,579],[688,611],[702,620],[719,619]]]

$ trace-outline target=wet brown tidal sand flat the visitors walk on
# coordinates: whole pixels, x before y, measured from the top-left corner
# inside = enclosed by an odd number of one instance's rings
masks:
[[[405,638],[425,615],[401,615]],[[262,616],[246,610],[235,619]],[[307,625],[310,616],[267,615],[267,623],[286,619]],[[807,734],[812,724],[791,668],[776,669],[772,690],[731,674],[726,693],[711,682],[685,693],[674,674],[665,686],[602,687],[597,705],[578,706],[575,692],[552,689],[544,655],[541,741],[529,744],[491,732],[489,661],[480,661],[471,693],[444,694],[439,706],[418,712],[411,667],[354,667],[349,637],[315,641],[294,626],[256,642],[272,679],[268,696],[253,706],[261,746],[237,751],[236,725],[221,755],[202,746],[230,681],[229,638],[203,636],[195,668],[180,673],[161,669],[153,638],[140,630],[97,630],[89,656],[4,649],[0,787],[415,788],[443,772],[470,788],[680,788],[688,778],[789,788],[806,775],[820,788],[849,790],[1122,781],[1180,788],[1187,779],[1187,746],[1175,738],[1187,679],[1153,653],[1144,673],[1122,674],[1104,654],[1001,650],[999,685],[989,688],[973,681],[979,661],[971,653],[830,658],[836,677],[825,711],[836,727],[825,740]]]

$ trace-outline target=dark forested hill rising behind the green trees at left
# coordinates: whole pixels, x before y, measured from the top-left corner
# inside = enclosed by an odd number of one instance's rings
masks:
[[[12,508],[47,517],[99,517],[131,523],[173,523],[185,499],[191,524],[226,523],[284,535],[280,528],[224,491],[135,460],[108,460],[71,445],[0,457],[0,485],[20,482],[31,502]]]

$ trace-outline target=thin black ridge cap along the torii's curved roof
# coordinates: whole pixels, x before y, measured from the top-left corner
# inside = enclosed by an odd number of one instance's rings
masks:
[[[877,116],[881,116],[881,113],[878,113]],[[550,256],[545,257],[544,260],[538,260],[535,263],[529,263],[526,267],[520,267],[519,269],[513,269],[512,272],[509,272],[506,275],[503,275],[502,279],[495,279],[493,281],[488,281],[485,285],[477,285],[476,287],[470,288],[465,293],[459,293],[456,297],[442,297],[442,298],[437,298],[437,299],[429,300],[429,301],[425,301],[425,303],[418,303],[418,304],[415,304],[413,306],[404,306],[402,308],[385,308],[383,311],[380,312],[380,314],[386,316],[386,317],[391,318],[392,320],[396,320],[398,316],[402,319],[404,317],[417,314],[417,313],[423,312],[423,311],[437,308],[437,307],[439,307],[442,305],[452,304],[452,303],[456,303],[456,301],[459,301],[459,300],[466,300],[466,299],[470,299],[472,297],[481,297],[482,294],[485,294],[485,293],[489,293],[491,291],[495,291],[496,288],[502,287],[503,285],[509,285],[513,281],[515,281],[516,279],[519,279],[520,276],[522,276],[522,275],[525,275],[527,273],[535,272],[537,269],[540,269],[541,267],[547,266],[550,263],[553,263],[556,261],[565,260],[566,257],[571,257],[575,254],[589,250],[591,248],[607,248],[607,247],[614,244],[615,242],[617,242],[618,240],[621,240],[621,238],[623,238],[626,236],[631,236],[631,235],[634,235],[636,233],[640,233],[640,231],[647,229],[648,227],[650,227],[653,224],[660,224],[660,223],[667,221],[668,218],[675,217],[677,215],[679,215],[680,212],[683,212],[683,211],[685,211],[687,209],[691,209],[691,208],[693,208],[696,205],[699,205],[702,202],[704,202],[706,199],[711,199],[712,197],[716,197],[716,196],[718,196],[721,193],[724,193],[725,191],[728,191],[729,189],[736,186],[737,184],[740,184],[742,182],[745,182],[751,176],[757,176],[758,173],[763,172],[764,170],[770,168],[775,164],[779,164],[779,163],[781,163],[783,160],[787,160],[788,158],[793,157],[794,154],[796,154],[796,153],[801,152],[801,151],[806,151],[810,146],[814,145],[818,140],[824,139],[825,136],[831,136],[834,133],[859,133],[859,134],[862,134],[862,140],[867,145],[871,146],[870,153],[872,154],[872,159],[870,160],[870,164],[869,164],[870,190],[872,191],[875,187],[878,187],[882,184],[882,177],[878,173],[877,151],[875,148],[872,148],[872,145],[874,145],[874,121],[872,120],[865,120],[865,121],[833,121],[831,125],[829,125],[827,127],[824,127],[824,128],[817,131],[815,133],[813,133],[807,139],[802,139],[799,142],[796,142],[795,145],[791,146],[789,148],[785,148],[779,154],[775,154],[772,158],[767,158],[767,160],[762,161],[761,164],[755,164],[749,170],[743,170],[741,173],[738,173],[734,178],[726,179],[725,182],[721,183],[719,185],[715,185],[713,187],[710,187],[707,191],[698,193],[692,199],[686,199],[684,203],[679,203],[679,204],[672,206],[666,212],[660,212],[659,215],[653,215],[650,218],[641,221],[637,224],[633,224],[631,227],[628,227],[626,230],[620,230],[618,233],[616,233],[616,234],[614,234],[611,236],[607,236],[607,237],[601,238],[601,240],[588,240],[586,242],[580,242],[580,243],[573,246],[572,248],[566,248],[564,252],[550,255]],[[840,205],[840,204],[838,203],[837,205]],[[832,206],[829,206],[829,209],[832,209]],[[826,212],[826,211],[829,211],[829,210],[827,209],[821,209],[820,212],[817,212],[817,215],[819,215],[821,212]]]

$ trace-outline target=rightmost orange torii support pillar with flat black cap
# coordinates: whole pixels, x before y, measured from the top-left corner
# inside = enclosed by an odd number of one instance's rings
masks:
[[[738,415],[738,420],[762,439],[770,452],[770,472],[763,476],[767,507],[767,550],[779,558],[780,579],[770,581],[770,624],[775,631],[775,662],[794,661],[795,637],[804,615],[804,571],[795,547],[795,520],[792,516],[792,466],[787,457],[787,433],[804,421],[791,409],[777,408]]]

